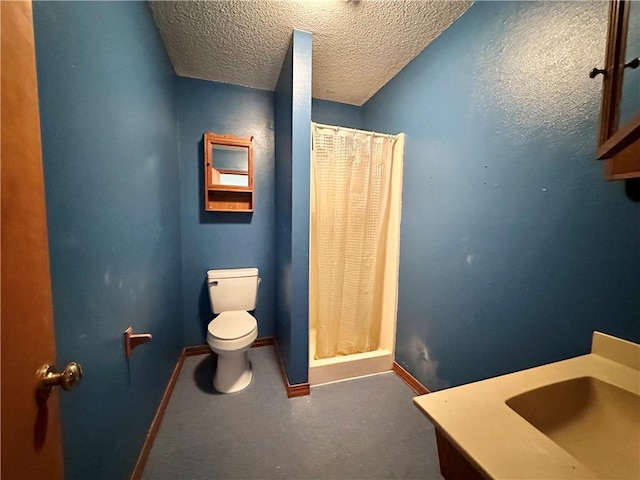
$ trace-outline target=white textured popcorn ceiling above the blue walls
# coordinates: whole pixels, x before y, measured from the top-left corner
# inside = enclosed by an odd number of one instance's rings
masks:
[[[180,76],[274,90],[296,28],[313,34],[313,97],[362,105],[471,3],[209,0],[149,6]]]

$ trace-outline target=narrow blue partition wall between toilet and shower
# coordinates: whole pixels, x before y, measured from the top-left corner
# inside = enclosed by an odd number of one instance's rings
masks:
[[[275,91],[277,340],[291,384],[309,367],[311,34],[294,30]]]

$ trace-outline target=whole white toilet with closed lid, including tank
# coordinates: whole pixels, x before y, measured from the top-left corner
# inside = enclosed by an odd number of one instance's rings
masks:
[[[258,336],[258,322],[247,310],[258,300],[257,268],[209,270],[211,311],[219,313],[207,327],[207,343],[218,354],[213,386],[220,393],[239,392],[253,376],[247,351]]]

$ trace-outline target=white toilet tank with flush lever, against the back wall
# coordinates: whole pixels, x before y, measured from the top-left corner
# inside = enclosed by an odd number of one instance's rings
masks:
[[[254,310],[258,301],[257,268],[209,270],[207,285],[213,313],[230,310]]]

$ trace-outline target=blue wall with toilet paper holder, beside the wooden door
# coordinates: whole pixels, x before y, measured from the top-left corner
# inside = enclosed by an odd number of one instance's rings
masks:
[[[36,2],[67,479],[125,479],[183,346],[173,69],[142,2]],[[37,275],[37,272],[34,272]],[[123,332],[153,340],[127,362]]]

